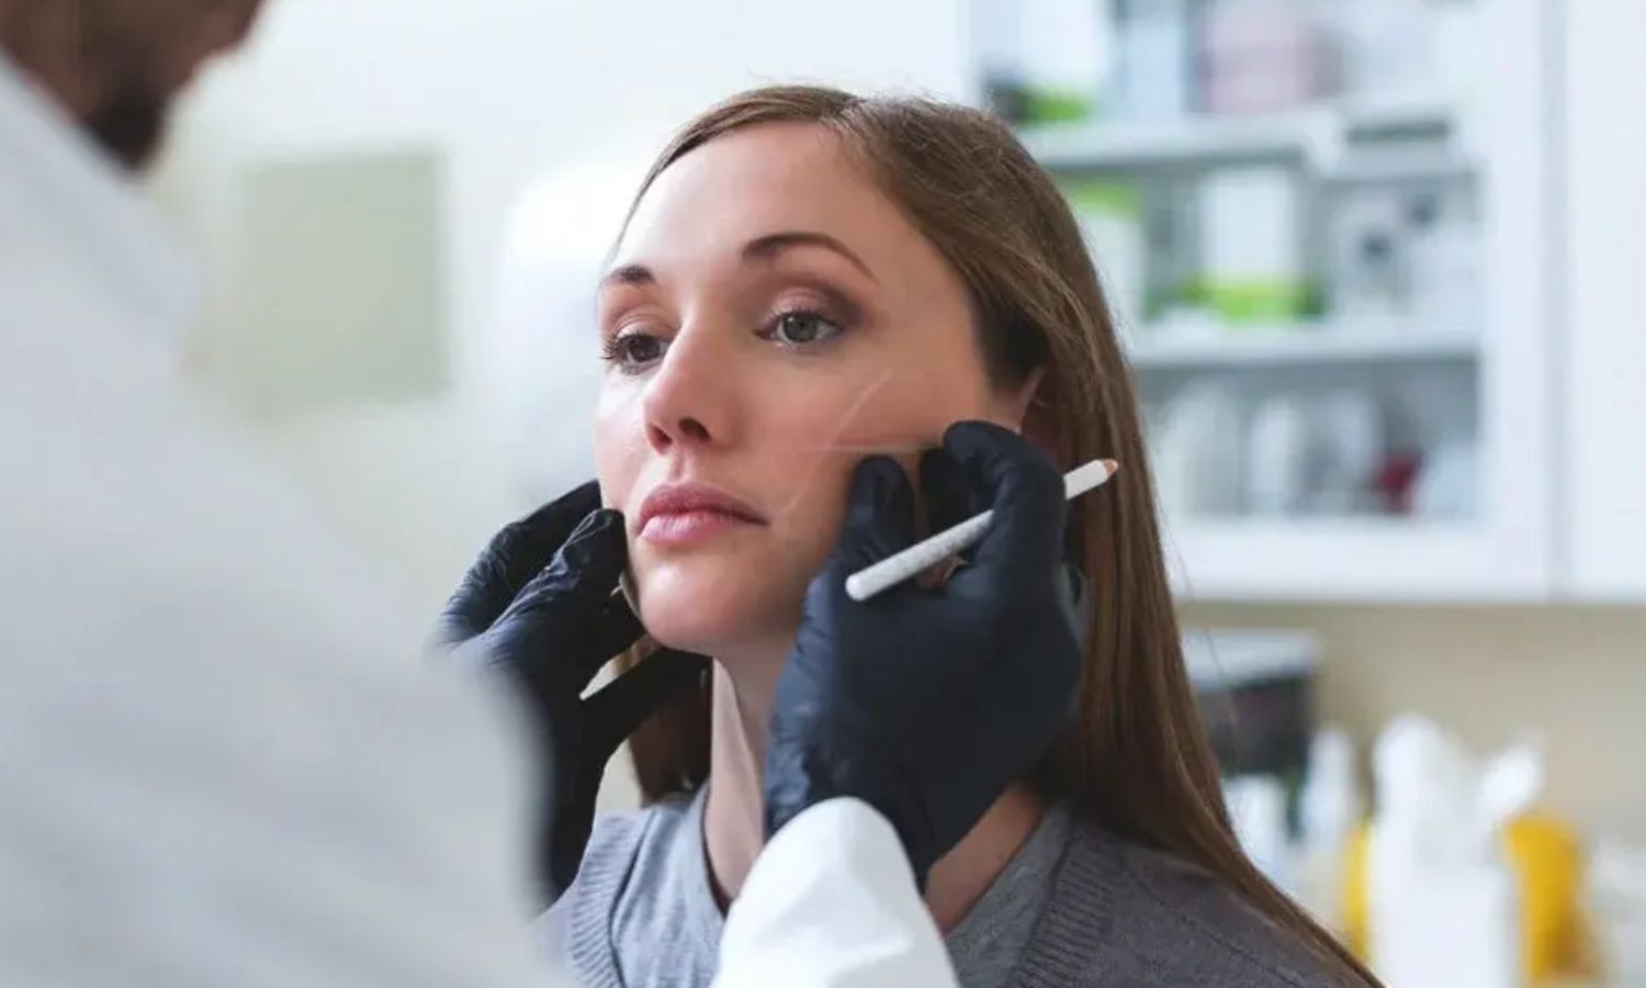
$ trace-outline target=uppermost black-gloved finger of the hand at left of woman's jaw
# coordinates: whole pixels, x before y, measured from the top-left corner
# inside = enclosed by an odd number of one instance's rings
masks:
[[[492,537],[441,611],[435,642],[456,645],[491,627],[599,506],[599,484],[589,481]]]

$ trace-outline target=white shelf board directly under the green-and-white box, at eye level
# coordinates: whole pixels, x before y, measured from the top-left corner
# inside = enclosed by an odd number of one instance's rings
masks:
[[[1139,370],[1473,361],[1480,356],[1480,334],[1401,326],[1251,328],[1216,334],[1146,329],[1126,354]]]

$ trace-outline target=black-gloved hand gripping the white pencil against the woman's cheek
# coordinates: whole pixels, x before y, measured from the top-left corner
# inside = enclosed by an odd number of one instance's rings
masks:
[[[1062,474],[1016,433],[960,423],[920,464],[933,527],[993,506],[994,524],[942,588],[869,601],[846,576],[912,543],[904,469],[859,464],[835,555],[811,581],[777,685],[765,830],[858,797],[902,838],[917,881],[1021,779],[1067,723],[1081,673],[1078,576],[1063,565]]]

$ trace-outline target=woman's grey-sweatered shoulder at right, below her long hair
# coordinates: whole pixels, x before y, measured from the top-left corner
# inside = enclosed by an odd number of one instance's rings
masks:
[[[1337,988],[1348,981],[1300,937],[1182,858],[1080,823],[1035,940],[1080,983]],[[1080,970],[1076,972],[1075,967]]]

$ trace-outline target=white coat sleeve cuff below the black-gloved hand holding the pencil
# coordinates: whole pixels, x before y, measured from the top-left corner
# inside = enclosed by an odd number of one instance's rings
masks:
[[[892,825],[831,799],[777,832],[726,919],[716,988],[956,985]]]

